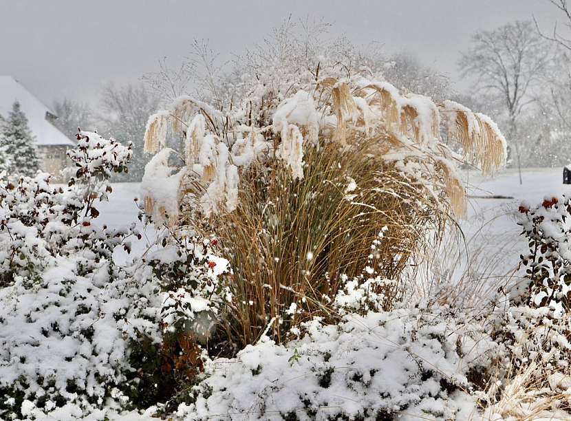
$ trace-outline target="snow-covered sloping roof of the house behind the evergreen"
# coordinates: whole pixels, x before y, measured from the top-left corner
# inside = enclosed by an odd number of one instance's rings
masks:
[[[46,119],[46,113],[54,114],[48,107],[12,76],[0,76],[0,116],[7,117],[15,101],[20,102],[21,110],[28,118],[28,125],[36,137],[36,144],[40,146],[75,144]]]

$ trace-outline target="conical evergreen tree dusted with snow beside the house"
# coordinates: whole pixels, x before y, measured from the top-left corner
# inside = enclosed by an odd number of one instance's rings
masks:
[[[32,176],[39,170],[40,158],[34,144],[34,135],[19,102],[14,102],[12,111],[0,127],[0,149],[7,155],[8,173]]]

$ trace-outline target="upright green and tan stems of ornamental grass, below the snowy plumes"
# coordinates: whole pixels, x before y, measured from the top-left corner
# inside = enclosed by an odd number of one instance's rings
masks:
[[[303,180],[292,180],[279,161],[266,173],[252,168],[240,180],[237,208],[212,218],[219,250],[234,268],[232,336],[253,343],[274,319],[281,339],[314,314],[332,316],[330,303],[346,279],[398,280],[426,246],[427,231],[444,226],[435,199],[363,147],[309,149]],[[385,309],[400,288],[385,285]]]

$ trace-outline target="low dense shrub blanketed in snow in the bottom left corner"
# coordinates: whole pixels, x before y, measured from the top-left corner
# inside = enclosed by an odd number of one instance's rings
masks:
[[[77,257],[61,257],[30,284],[0,290],[0,415],[23,400],[50,411],[67,402],[101,406],[129,366],[122,337],[129,301],[109,262],[85,276]]]

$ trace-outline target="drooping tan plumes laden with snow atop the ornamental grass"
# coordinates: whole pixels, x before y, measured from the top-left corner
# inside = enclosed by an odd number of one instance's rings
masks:
[[[271,123],[252,124],[251,109],[239,112],[229,107],[231,111],[227,114],[219,111],[213,113],[211,109],[207,111],[203,102],[186,97],[177,100],[169,109],[149,119],[145,135],[149,144],[147,151],[156,152],[164,147],[166,135],[163,126],[166,124],[171,125],[175,136],[184,135],[186,171],[189,175],[200,175],[206,190],[210,184],[215,185],[210,188],[208,195],[201,198],[206,215],[217,211],[219,203],[224,202],[226,196],[226,185],[219,181],[219,177],[213,177],[215,168],[236,164],[239,168],[247,169],[252,158],[255,158],[251,153],[227,155],[219,150],[219,144],[232,146],[235,142],[241,142],[248,136],[248,131],[257,131],[273,145],[278,152],[273,156],[290,166],[294,178],[303,177],[303,155],[310,145],[319,147],[330,141],[345,144],[347,140],[363,134],[369,136],[371,142],[378,142],[381,150],[387,149],[385,153],[398,151],[401,160],[410,159],[420,152],[424,157],[438,156],[440,160],[450,162],[446,166],[453,166],[451,153],[439,146],[440,114],[444,114],[449,121],[449,137],[462,143],[466,150],[469,149],[471,157],[482,164],[484,171],[495,171],[505,164],[505,140],[497,126],[486,116],[473,114],[455,102],[445,101],[435,105],[426,96],[402,95],[398,89],[382,80],[382,76],[365,78],[357,74],[352,78],[339,78],[334,69],[324,69],[322,72],[330,72],[331,75],[308,81],[305,89],[295,91],[277,105],[267,102],[268,109],[259,112],[270,116]],[[252,87],[252,92],[256,91],[256,87]],[[247,104],[248,101],[245,101],[244,105]],[[335,128],[327,122],[334,122]],[[220,129],[221,125],[224,129]],[[386,136],[387,133],[389,136]],[[415,144],[414,150],[409,149],[409,141]],[[198,162],[196,155],[200,157]],[[435,176],[442,175],[445,179],[455,177],[453,171],[440,171],[439,166],[427,168],[423,178],[433,180]],[[461,185],[460,180],[455,178],[455,182],[449,181],[445,188],[452,184]],[[457,191],[449,193],[457,195]],[[151,189],[147,189],[147,195],[152,196]],[[206,201],[211,204],[207,205]],[[234,206],[230,205],[230,208]],[[455,210],[461,214],[464,207],[458,205]]]

